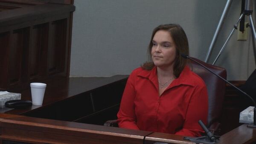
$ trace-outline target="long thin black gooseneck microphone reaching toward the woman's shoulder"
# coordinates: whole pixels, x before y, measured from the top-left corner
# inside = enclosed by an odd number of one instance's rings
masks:
[[[223,81],[225,81],[227,84],[230,84],[230,86],[234,87],[235,89],[237,89],[239,92],[243,93],[244,95],[246,95],[248,98],[250,98],[253,101],[253,105],[254,105],[254,109],[253,109],[253,125],[247,125],[247,127],[254,127],[256,128],[256,103],[253,100],[253,98],[248,95],[247,93],[245,93],[244,91],[242,91],[241,89],[239,89],[238,87],[234,86],[233,84],[231,84],[229,81],[225,80],[224,78],[222,78],[221,76],[219,76],[218,74],[216,74],[215,72],[212,72],[212,70],[208,69],[206,66],[204,66],[202,63],[199,63],[197,60],[194,60],[193,58],[189,57],[188,55],[184,55],[181,54],[181,56],[183,58],[188,58],[189,60],[194,61],[195,63],[198,63],[199,65],[203,66],[205,69],[207,69],[209,72],[211,72],[212,74],[216,75],[218,78],[221,78]]]

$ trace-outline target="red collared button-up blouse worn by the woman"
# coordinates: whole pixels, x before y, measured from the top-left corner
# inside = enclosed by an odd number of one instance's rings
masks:
[[[176,135],[200,136],[207,123],[204,81],[186,66],[159,95],[157,69],[135,69],[128,78],[117,114],[119,127]]]

